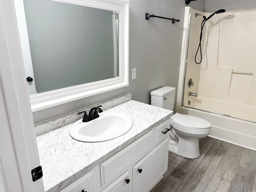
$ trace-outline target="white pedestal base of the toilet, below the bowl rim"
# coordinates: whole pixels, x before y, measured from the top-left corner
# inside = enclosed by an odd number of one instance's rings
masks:
[[[179,137],[179,141],[170,138],[169,151],[189,159],[198,158],[200,156],[198,138]]]

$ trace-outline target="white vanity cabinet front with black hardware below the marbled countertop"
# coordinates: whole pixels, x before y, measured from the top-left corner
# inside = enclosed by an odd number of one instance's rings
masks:
[[[148,192],[168,165],[170,119],[95,166],[60,192]]]

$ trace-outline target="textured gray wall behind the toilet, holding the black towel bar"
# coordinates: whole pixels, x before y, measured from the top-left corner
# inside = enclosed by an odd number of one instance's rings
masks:
[[[205,0],[198,2],[202,2],[204,7]],[[150,91],[162,86],[177,88],[185,6],[185,0],[130,0],[129,86],[34,112],[34,122],[42,122],[127,92],[132,94],[133,100],[150,104]],[[191,2],[190,6],[201,9],[201,4],[198,6],[196,2]],[[180,22],[172,24],[170,20],[160,18],[146,20],[146,13],[180,19]],[[132,68],[137,68],[135,80],[131,80]]]

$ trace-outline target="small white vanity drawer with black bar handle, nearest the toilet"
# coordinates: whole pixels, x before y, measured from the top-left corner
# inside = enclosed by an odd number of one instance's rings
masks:
[[[155,144],[162,141],[167,136],[169,136],[170,131],[168,130],[170,129],[170,124],[171,124],[171,120],[168,119],[156,127]]]

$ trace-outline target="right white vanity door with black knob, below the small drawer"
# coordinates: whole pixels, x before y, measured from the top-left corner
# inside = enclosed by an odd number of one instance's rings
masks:
[[[165,138],[132,167],[133,192],[148,192],[162,179],[168,166],[168,144]]]

